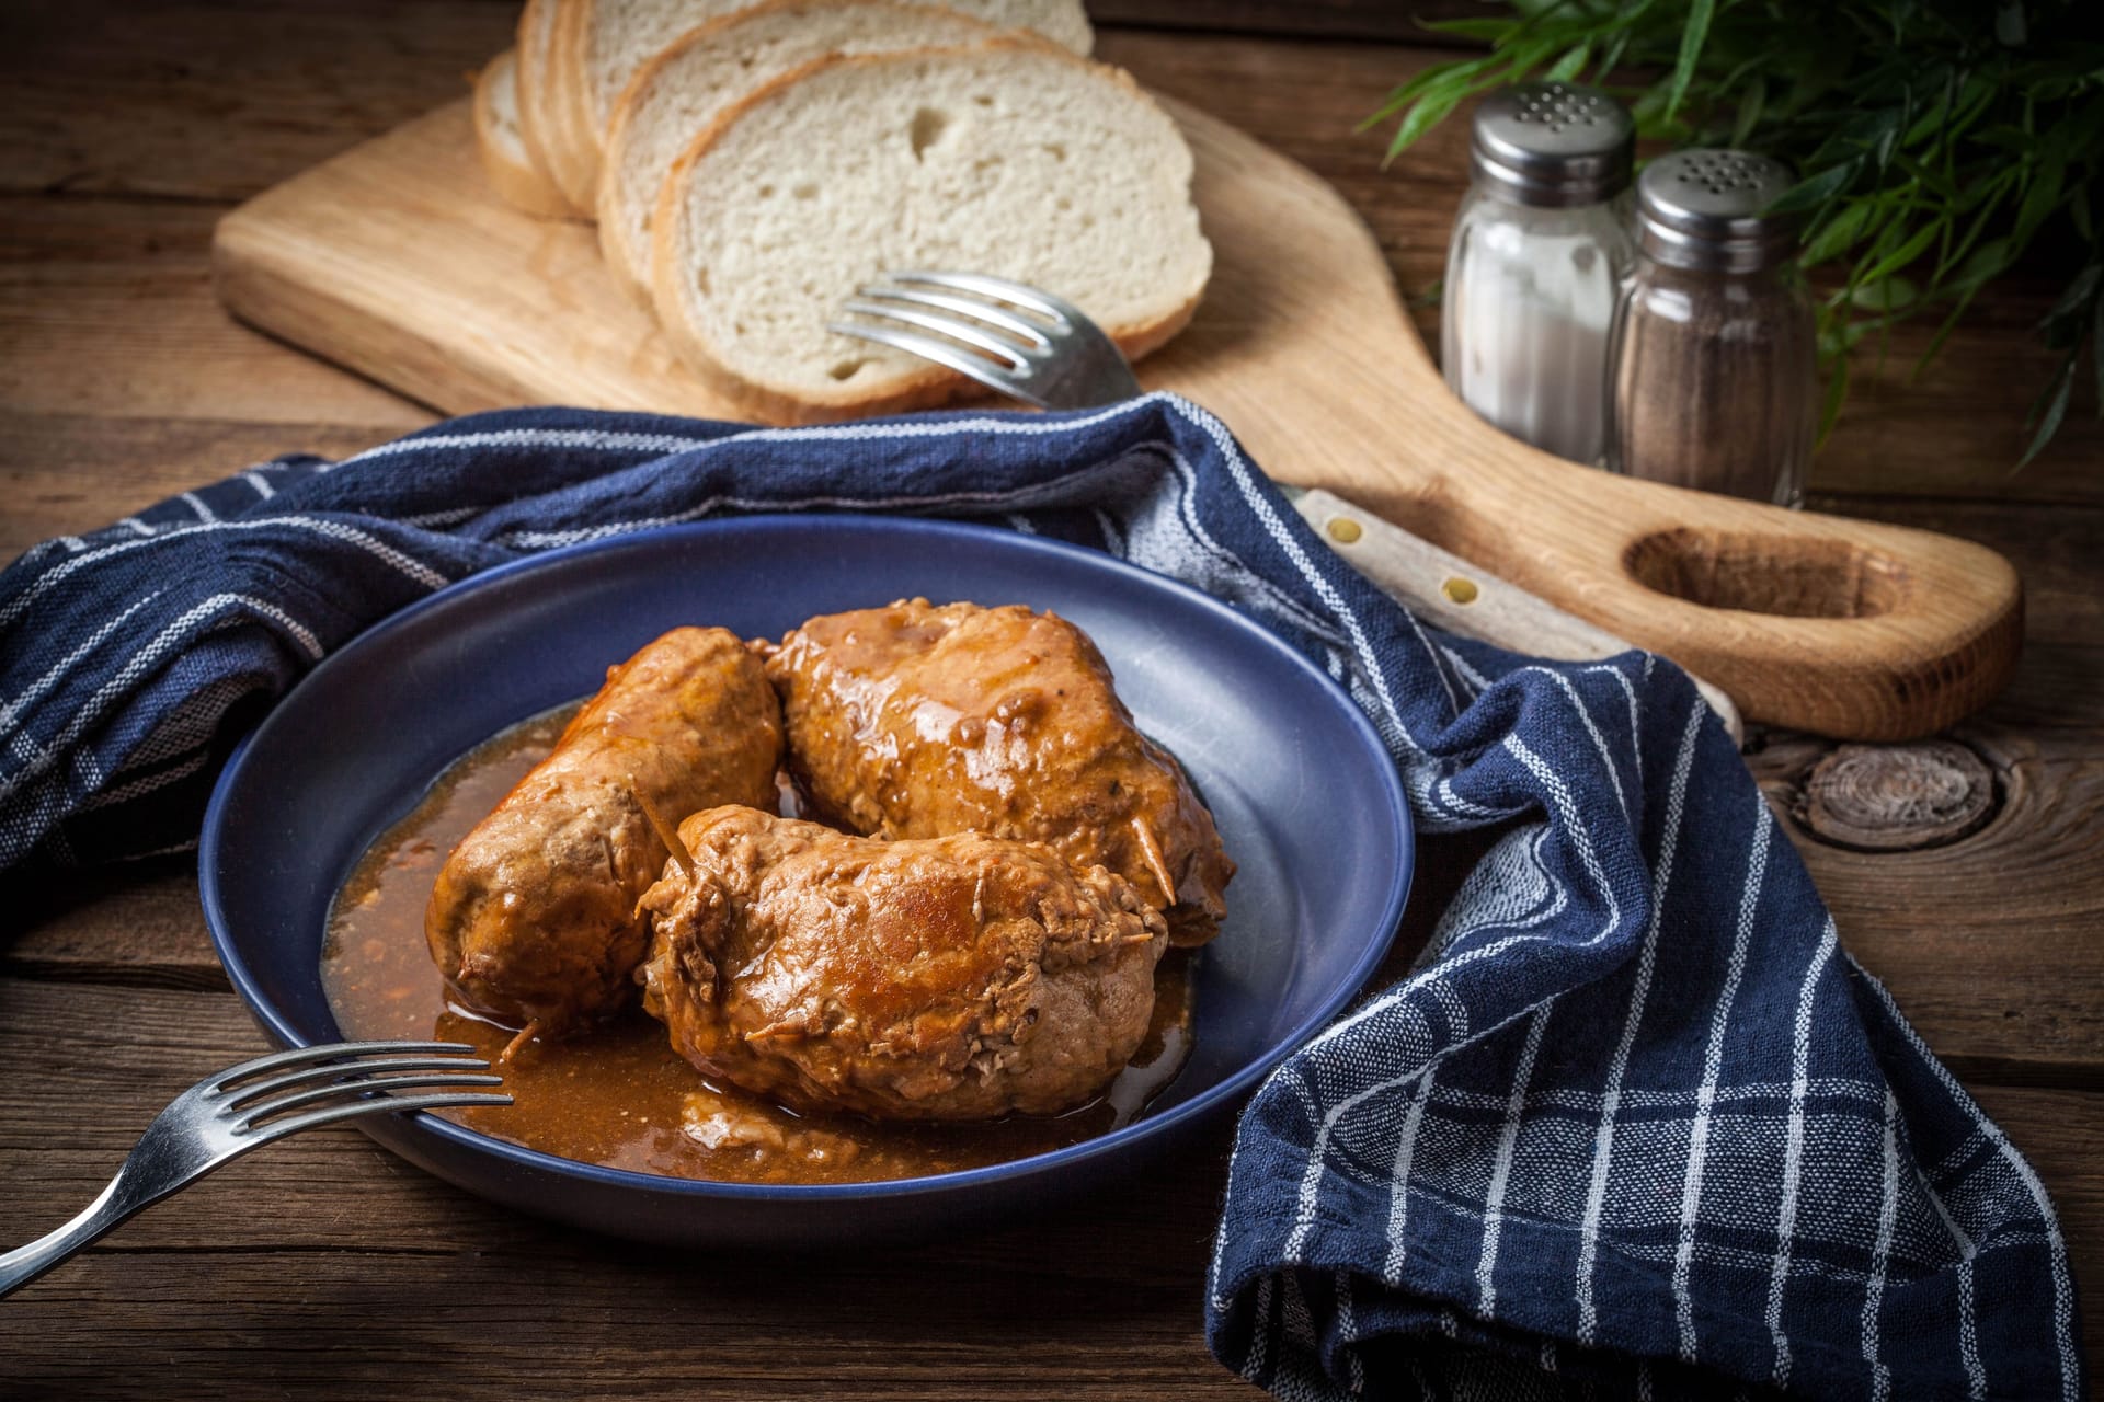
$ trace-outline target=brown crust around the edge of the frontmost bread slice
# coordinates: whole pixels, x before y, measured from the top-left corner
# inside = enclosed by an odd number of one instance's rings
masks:
[[[747,111],[772,101],[785,88],[791,88],[812,74],[831,71],[835,67],[850,65],[871,65],[871,63],[896,63],[905,59],[919,59],[930,55],[970,55],[987,53],[999,48],[1018,48],[1041,55],[1056,55],[1065,63],[1075,63],[1096,76],[1117,82],[1134,97],[1153,105],[1153,99],[1145,88],[1132,78],[1132,74],[1113,67],[1109,63],[1096,63],[1084,59],[1050,40],[1039,40],[1027,34],[1004,34],[987,44],[976,44],[968,48],[943,46],[943,48],[909,48],[898,53],[882,55],[835,55],[829,59],[816,59],[802,67],[795,67],[781,78],[753,88],[743,99],[726,107],[715,122],[703,128],[680,158],[671,164],[665,185],[659,189],[656,210],[650,217],[650,301],[656,309],[659,324],[665,334],[673,341],[680,357],[690,370],[694,370],[707,385],[722,397],[730,399],[741,414],[760,418],[772,425],[810,425],[810,422],[839,422],[846,418],[869,418],[879,414],[905,414],[911,410],[938,408],[964,397],[985,395],[980,387],[970,376],[957,374],[955,370],[945,370],[940,366],[926,366],[915,370],[905,380],[894,383],[888,389],[848,389],[842,387],[839,393],[808,393],[791,391],[776,385],[766,385],[760,380],[749,380],[734,370],[730,370],[715,353],[715,349],[703,338],[686,319],[684,305],[680,298],[680,248],[677,248],[677,217],[675,208],[680,202],[680,191],[686,185],[688,172],[709,153],[709,149],[728,132]],[[1157,107],[1159,111],[1159,107]],[[1164,114],[1166,116],[1166,114]],[[1208,275],[1210,282],[1210,275]],[[1149,317],[1142,322],[1105,326],[1102,332],[1117,343],[1126,359],[1138,359],[1149,351],[1157,349],[1178,330],[1182,330],[1191,317],[1197,313],[1199,301],[1206,296],[1206,284],[1199,284],[1197,292],[1187,301],[1178,303],[1159,317]]]

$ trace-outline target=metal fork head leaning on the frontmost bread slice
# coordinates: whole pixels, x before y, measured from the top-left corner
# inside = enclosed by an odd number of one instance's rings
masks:
[[[1140,393],[1117,343],[1079,307],[985,273],[886,273],[850,298],[842,336],[875,341],[1041,410],[1117,404]]]

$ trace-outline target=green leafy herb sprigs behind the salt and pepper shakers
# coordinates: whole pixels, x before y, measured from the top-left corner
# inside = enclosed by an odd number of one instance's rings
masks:
[[[1839,269],[1820,309],[1822,433],[1856,345],[1940,313],[1925,366],[1980,290],[2035,250],[2068,282],[2041,322],[2060,359],[2022,462],[2058,433],[2085,357],[2104,414],[2098,0],[1511,0],[1506,15],[1427,27],[1490,53],[1389,95],[1368,126],[1397,122],[1391,158],[1471,97],[1540,78],[1610,88],[1643,137],[1797,168],[1774,208],[1805,217],[1805,271]]]

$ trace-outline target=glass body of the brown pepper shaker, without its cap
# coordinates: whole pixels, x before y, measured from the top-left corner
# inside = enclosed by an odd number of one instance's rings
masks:
[[[1818,429],[1812,301],[1784,269],[1637,259],[1614,328],[1618,471],[1797,507]]]

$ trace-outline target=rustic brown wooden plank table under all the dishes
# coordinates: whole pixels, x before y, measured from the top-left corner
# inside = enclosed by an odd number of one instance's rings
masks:
[[[1334,181],[1414,292],[1439,275],[1460,132],[1384,172],[1378,137],[1353,130],[1433,53],[1412,8],[1092,4],[1102,57]],[[431,418],[231,324],[206,244],[236,202],[457,97],[509,25],[499,0],[4,6],[0,559],[263,456]],[[1748,763],[1847,946],[2037,1164],[2079,1276],[2104,1288],[2104,433],[2081,416],[2009,471],[2047,303],[2043,286],[1984,301],[1919,380],[1902,336],[1858,374],[1812,483],[1816,509],[2007,553],[2030,601],[2016,683],[1955,748],[1828,759],[1765,734]],[[1427,845],[1399,958],[1464,855]],[[15,891],[0,912],[13,1242],[93,1198],[170,1093],[263,1040],[181,860]],[[1199,1335],[1225,1152],[1220,1129],[1145,1183],[995,1234],[701,1259],[513,1217],[358,1133],[316,1133],[0,1305],[0,1391],[1248,1396]]]

